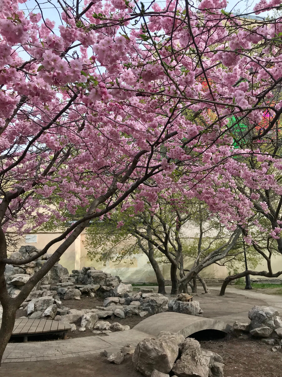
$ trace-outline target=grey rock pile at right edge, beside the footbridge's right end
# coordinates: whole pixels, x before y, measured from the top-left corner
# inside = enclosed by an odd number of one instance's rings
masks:
[[[282,346],[282,317],[279,311],[272,307],[254,306],[249,310],[250,323],[235,322],[233,334],[247,339],[250,336],[260,338],[263,343],[276,345],[273,351]]]

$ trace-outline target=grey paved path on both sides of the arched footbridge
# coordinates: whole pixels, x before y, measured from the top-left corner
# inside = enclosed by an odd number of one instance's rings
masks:
[[[253,305],[271,305],[282,314],[282,297],[228,287],[226,296],[218,296],[220,287],[210,287],[211,295],[199,294],[204,316],[233,324],[235,320],[248,320]],[[105,336],[88,336],[49,342],[9,343],[3,363],[65,359],[103,352],[106,348],[136,345],[148,335],[134,329],[118,331]]]

